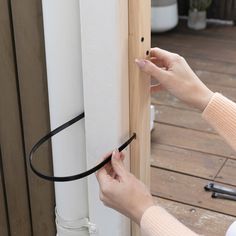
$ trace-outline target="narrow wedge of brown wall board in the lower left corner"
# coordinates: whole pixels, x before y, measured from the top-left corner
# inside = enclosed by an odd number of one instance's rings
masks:
[[[0,235],[7,236],[9,233],[8,217],[6,211],[6,198],[3,179],[2,156],[0,148]]]

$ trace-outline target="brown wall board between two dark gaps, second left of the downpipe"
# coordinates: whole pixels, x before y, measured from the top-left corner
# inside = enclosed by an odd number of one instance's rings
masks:
[[[0,6],[0,140],[10,234],[12,236],[31,236],[30,208],[8,1],[0,0]]]

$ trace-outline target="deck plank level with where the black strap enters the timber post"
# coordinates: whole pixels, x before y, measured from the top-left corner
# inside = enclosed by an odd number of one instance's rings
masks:
[[[158,132],[152,133],[152,142],[236,158],[235,151],[216,134],[203,133],[160,123],[155,124],[155,129]]]

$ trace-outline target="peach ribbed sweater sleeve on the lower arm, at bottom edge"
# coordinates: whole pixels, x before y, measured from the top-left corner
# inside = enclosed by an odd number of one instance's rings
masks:
[[[140,222],[143,236],[197,236],[160,206],[148,208]]]

